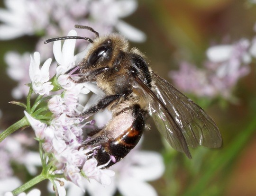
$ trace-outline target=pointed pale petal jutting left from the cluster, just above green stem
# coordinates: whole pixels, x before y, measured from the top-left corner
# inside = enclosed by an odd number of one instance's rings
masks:
[[[27,117],[29,124],[34,129],[37,138],[39,138],[40,140],[44,139],[45,138],[44,131],[47,125],[33,118],[26,111],[24,111],[24,113],[25,113],[25,116]]]

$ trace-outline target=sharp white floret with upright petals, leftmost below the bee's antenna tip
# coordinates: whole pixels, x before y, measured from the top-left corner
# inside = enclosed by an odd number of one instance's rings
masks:
[[[48,82],[50,79],[49,67],[51,62],[52,59],[47,59],[42,68],[39,69],[40,54],[35,52],[34,57],[31,56],[29,77],[32,81],[32,89],[39,95],[48,95],[49,92],[54,88],[54,86],[51,85],[51,82]]]

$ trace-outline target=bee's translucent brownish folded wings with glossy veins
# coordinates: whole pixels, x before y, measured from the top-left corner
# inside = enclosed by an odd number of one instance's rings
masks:
[[[138,80],[137,83],[149,102],[149,115],[153,117],[159,132],[175,150],[184,152],[191,158],[188,146],[221,146],[222,138],[217,125],[191,99],[154,72],[151,89]]]

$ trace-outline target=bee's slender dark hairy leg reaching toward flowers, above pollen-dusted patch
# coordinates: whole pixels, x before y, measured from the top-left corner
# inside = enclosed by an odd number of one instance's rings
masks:
[[[104,110],[106,107],[108,107],[111,103],[119,99],[121,95],[107,95],[104,98],[102,98],[96,105],[91,106],[87,110],[85,110],[82,114],[77,115],[75,117],[83,117],[86,118],[88,116],[91,116],[95,114],[96,112]]]

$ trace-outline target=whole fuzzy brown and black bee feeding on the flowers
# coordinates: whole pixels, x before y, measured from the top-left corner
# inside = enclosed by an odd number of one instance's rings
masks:
[[[124,37],[116,33],[99,36],[91,27],[75,27],[90,30],[96,38],[65,36],[45,43],[63,39],[84,39],[91,43],[78,64],[79,79],[74,82],[96,82],[106,95],[76,117],[86,118],[109,109],[112,119],[93,130],[82,144],[81,147],[91,149],[88,159],[94,157],[102,168],[123,159],[140,140],[149,116],[168,143],[188,158],[192,158],[189,147],[221,146],[221,134],[212,118],[152,71],[144,55],[137,48],[129,49]]]

